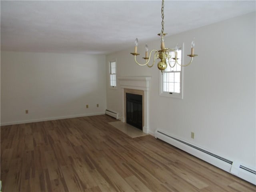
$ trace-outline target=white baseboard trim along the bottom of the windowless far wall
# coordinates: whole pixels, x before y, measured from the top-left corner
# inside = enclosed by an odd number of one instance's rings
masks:
[[[59,119],[69,119],[69,118],[76,118],[76,117],[86,117],[86,116],[94,116],[94,115],[104,115],[104,114],[105,112],[97,112],[97,113],[86,113],[86,114],[70,115],[70,116],[49,117],[49,118],[42,118],[42,119],[30,119],[30,120],[22,120],[22,121],[14,121],[14,122],[3,122],[3,123],[1,122],[1,126],[59,120]]]

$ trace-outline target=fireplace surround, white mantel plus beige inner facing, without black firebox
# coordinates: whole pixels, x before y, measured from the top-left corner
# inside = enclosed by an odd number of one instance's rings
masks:
[[[148,133],[148,103],[151,77],[120,77],[118,78],[122,88],[122,122],[126,119],[126,93],[142,96],[142,131]]]

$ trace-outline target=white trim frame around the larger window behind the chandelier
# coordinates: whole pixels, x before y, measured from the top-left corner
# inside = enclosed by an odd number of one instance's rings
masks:
[[[182,43],[181,48],[181,57],[182,60],[180,63],[183,64],[184,61],[184,43]],[[177,64],[176,64],[177,65]],[[159,70],[159,79],[160,79],[160,89],[159,89],[159,95],[164,97],[170,97],[170,98],[177,98],[177,99],[183,99],[183,77],[184,77],[184,67],[181,67],[180,69],[180,93],[169,93],[169,92],[163,92],[163,75],[162,72]]]

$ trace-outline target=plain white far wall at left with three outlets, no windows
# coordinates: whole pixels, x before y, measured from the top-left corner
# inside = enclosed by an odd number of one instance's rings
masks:
[[[1,51],[1,125],[104,114],[105,60],[104,55]]]

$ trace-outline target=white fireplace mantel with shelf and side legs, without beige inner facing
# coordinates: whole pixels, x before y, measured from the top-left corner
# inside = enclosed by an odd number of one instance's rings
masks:
[[[122,88],[122,122],[126,122],[124,103],[124,89],[142,90],[144,91],[144,126],[143,132],[148,133],[148,103],[149,103],[149,88],[151,77],[120,77],[118,78],[119,85]]]

